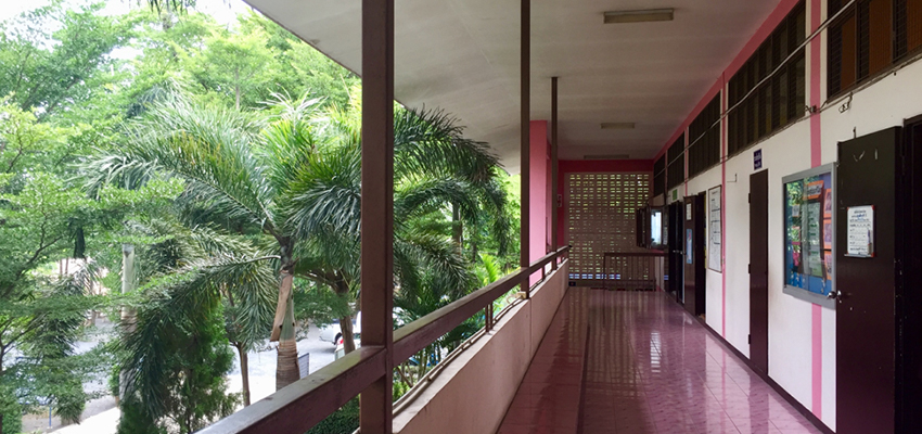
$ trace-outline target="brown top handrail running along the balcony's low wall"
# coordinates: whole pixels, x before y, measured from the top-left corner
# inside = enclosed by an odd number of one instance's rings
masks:
[[[362,346],[317,372],[245,407],[200,431],[201,434],[304,433],[356,397],[386,372],[386,366],[399,365],[477,311],[492,305],[509,290],[522,286],[530,292],[527,279],[569,252],[564,246],[520,267],[502,279],[459,298],[394,331],[394,349]],[[389,363],[387,363],[389,358]]]

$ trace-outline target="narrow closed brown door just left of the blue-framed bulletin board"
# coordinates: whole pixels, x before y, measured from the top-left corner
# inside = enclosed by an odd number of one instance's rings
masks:
[[[768,170],[750,176],[750,359],[768,373]]]

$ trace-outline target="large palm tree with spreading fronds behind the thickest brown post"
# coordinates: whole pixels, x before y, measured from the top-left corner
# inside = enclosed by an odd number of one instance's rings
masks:
[[[271,340],[279,341],[277,390],[299,378],[292,286],[295,275],[347,297],[358,291],[361,159],[354,110],[320,113],[319,100],[280,99],[269,122],[254,113],[206,108],[181,98],[155,103],[128,128],[128,142],[92,166],[93,183],[124,174],[162,173],[185,180],[180,203],[226,231],[261,234],[280,272]],[[490,196],[497,159],[465,140],[438,111],[398,108],[395,116],[395,280],[412,289],[424,269],[445,288],[471,276],[450,240],[401,229],[401,221],[459,204],[473,218],[502,215]],[[256,120],[253,120],[253,119]],[[463,176],[462,176],[463,175]],[[137,175],[135,175],[137,177]],[[488,197],[489,201],[483,200]],[[502,219],[495,226],[502,229]],[[351,317],[341,318],[346,350]]]

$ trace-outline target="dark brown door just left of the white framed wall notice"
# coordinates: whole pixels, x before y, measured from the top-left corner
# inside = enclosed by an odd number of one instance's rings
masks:
[[[704,193],[688,196],[682,207],[682,245],[684,268],[684,306],[691,315],[704,315],[705,270],[704,270]]]

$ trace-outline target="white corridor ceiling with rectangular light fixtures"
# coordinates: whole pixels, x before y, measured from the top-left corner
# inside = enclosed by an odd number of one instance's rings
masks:
[[[361,0],[246,0],[361,74]],[[550,119],[559,76],[560,157],[651,158],[780,0],[533,0],[532,118]],[[518,171],[518,1],[397,0],[395,94],[440,107]],[[675,21],[603,24],[615,10],[675,8]],[[600,124],[636,123],[633,130]]]

